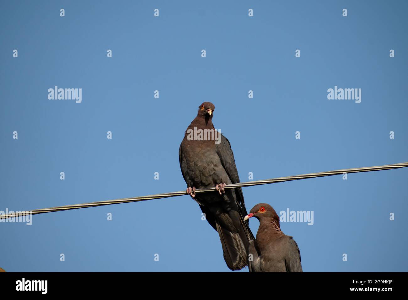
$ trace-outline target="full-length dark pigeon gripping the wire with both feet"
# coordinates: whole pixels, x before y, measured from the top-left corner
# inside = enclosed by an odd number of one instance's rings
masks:
[[[197,117],[187,127],[179,149],[180,168],[188,186],[187,193],[200,204],[206,220],[220,235],[228,268],[240,270],[247,265],[246,248],[254,236],[248,221],[244,221],[247,213],[242,189],[224,190],[226,184],[239,182],[231,145],[221,133],[217,133],[220,140],[202,140],[199,135],[191,139],[190,134],[199,129],[214,133],[214,110],[214,104],[204,102]],[[216,187],[217,191],[195,194],[196,189],[212,187]]]

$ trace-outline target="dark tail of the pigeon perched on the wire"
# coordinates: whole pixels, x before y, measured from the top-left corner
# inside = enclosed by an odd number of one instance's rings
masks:
[[[235,216],[236,217],[236,216]],[[248,224],[239,214],[239,224],[231,220],[227,214],[221,215],[215,220],[218,234],[224,252],[224,260],[231,270],[240,270],[248,265],[246,248],[250,240],[253,240],[253,234],[249,229]]]

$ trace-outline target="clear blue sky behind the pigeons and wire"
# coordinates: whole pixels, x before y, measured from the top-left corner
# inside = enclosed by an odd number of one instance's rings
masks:
[[[185,189],[178,149],[204,101],[215,104],[213,123],[241,181],[249,172],[260,180],[405,162],[407,9],[406,1],[1,1],[0,210]],[[82,88],[82,103],[48,100],[55,85]],[[361,88],[361,103],[328,100],[335,85]],[[243,191],[248,211],[259,202],[314,211],[313,226],[281,223],[304,271],[408,271],[407,176],[405,168]],[[258,224],[250,220],[254,234]],[[189,196],[46,213],[31,226],[0,223],[0,236],[6,271],[229,271]]]

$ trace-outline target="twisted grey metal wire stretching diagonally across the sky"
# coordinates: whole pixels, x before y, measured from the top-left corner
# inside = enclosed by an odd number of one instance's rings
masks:
[[[384,166],[377,166],[377,167],[342,169],[342,170],[337,170],[337,171],[309,173],[309,174],[304,174],[304,175],[240,182],[240,183],[235,183],[235,184],[227,184],[224,187],[224,189],[235,189],[238,187],[251,187],[253,185],[271,184],[271,183],[276,183],[276,182],[300,180],[300,179],[307,179],[307,178],[341,175],[344,173],[359,173],[359,172],[371,172],[371,171],[399,169],[399,168],[404,168],[404,167],[408,167],[408,162],[401,162],[398,164],[386,164]],[[213,191],[215,191],[215,187],[211,189],[196,190],[195,193],[196,194],[209,193]],[[134,197],[134,198],[122,198],[122,199],[116,199],[116,200],[106,200],[106,201],[74,204],[74,205],[64,205],[64,206],[51,207],[51,208],[35,209],[32,211],[16,211],[15,213],[0,215],[0,219],[7,219],[7,218],[18,217],[18,216],[27,216],[30,214],[36,215],[39,213],[51,213],[53,211],[66,211],[70,209],[80,209],[80,208],[95,207],[95,206],[110,205],[110,204],[120,204],[120,203],[138,202],[138,201],[146,201],[146,200],[161,199],[161,198],[178,197],[178,196],[184,196],[184,195],[187,195],[186,191],[178,191],[178,192],[173,192],[173,193],[155,194],[155,195]]]

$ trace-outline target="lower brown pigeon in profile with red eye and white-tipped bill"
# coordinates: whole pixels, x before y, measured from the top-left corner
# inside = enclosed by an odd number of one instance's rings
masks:
[[[280,229],[275,209],[269,204],[259,203],[244,220],[252,217],[259,220],[259,228],[256,239],[248,245],[249,271],[302,272],[299,247]]]

